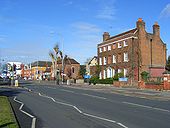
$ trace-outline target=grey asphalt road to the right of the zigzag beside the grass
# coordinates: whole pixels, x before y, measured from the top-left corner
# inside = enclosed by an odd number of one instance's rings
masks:
[[[170,102],[69,88],[26,85],[16,93],[42,128],[169,128]]]

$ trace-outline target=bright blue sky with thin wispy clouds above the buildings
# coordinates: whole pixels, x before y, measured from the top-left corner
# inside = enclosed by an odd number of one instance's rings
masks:
[[[84,64],[97,55],[103,32],[113,36],[135,28],[139,17],[148,32],[159,23],[170,55],[169,0],[0,0],[1,61],[50,60],[58,43]]]

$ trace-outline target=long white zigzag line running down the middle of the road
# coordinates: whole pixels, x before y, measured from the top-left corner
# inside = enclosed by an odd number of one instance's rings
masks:
[[[50,96],[47,96],[47,95],[42,95],[41,93],[39,93],[39,96],[45,97],[45,98],[48,98],[48,99],[51,99],[51,100],[52,100],[53,102],[55,102],[55,103],[72,107],[72,108],[74,108],[77,112],[79,112],[80,114],[82,114],[82,115],[84,115],[84,116],[88,116],[88,117],[96,118],[96,119],[99,119],[99,120],[111,122],[111,123],[117,124],[117,125],[119,125],[119,126],[121,126],[121,127],[123,127],[123,128],[128,128],[127,126],[125,126],[124,124],[122,124],[122,123],[120,123],[120,122],[117,122],[117,121],[114,121],[114,120],[110,120],[110,119],[107,119],[107,118],[102,118],[102,117],[95,116],[95,115],[91,115],[91,114],[88,114],[88,113],[84,113],[84,112],[82,112],[78,107],[76,107],[76,106],[74,106],[74,105],[72,105],[72,104],[67,104],[67,103],[63,103],[63,102],[60,102],[60,101],[56,101],[53,97],[50,97]]]

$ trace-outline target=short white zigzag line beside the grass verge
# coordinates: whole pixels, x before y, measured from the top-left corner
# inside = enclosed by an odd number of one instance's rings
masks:
[[[22,113],[24,113],[24,114],[26,114],[27,116],[29,116],[29,117],[32,118],[31,128],[35,128],[36,118],[35,118],[33,115],[29,114],[28,112],[22,110],[22,107],[24,106],[24,103],[22,103],[21,101],[17,100],[16,97],[14,97],[14,101],[21,104],[21,106],[19,107],[19,110],[20,110]]]

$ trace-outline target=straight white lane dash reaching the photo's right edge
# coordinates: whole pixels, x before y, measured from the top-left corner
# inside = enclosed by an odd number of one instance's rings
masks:
[[[164,111],[164,112],[170,112],[170,110],[166,110],[166,109],[162,109],[162,108],[156,108],[156,107],[151,107],[151,106],[146,106],[146,105],[141,105],[141,104],[136,104],[136,103],[131,103],[131,102],[122,102],[122,103],[133,105],[133,106],[138,106],[138,107],[143,107],[143,108],[149,108],[149,109]]]

